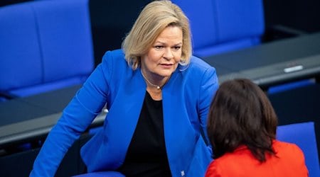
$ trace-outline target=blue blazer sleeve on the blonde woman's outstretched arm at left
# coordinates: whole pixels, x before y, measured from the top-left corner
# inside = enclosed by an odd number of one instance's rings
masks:
[[[80,137],[106,103],[108,79],[112,75],[112,55],[90,74],[60,119],[50,131],[33,164],[30,176],[54,176],[68,149]]]

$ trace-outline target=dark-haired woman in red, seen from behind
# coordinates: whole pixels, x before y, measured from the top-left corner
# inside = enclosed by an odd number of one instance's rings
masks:
[[[220,84],[208,113],[214,160],[208,176],[308,176],[296,144],[276,139],[277,115],[259,86],[248,79]]]

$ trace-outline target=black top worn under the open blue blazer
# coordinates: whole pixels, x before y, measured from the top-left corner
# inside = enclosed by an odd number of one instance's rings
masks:
[[[154,101],[147,91],[124,164],[118,171],[125,176],[171,176],[164,143],[162,101]]]

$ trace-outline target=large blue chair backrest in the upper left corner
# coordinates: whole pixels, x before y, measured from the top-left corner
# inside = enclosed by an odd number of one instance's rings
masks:
[[[82,84],[94,67],[88,0],[0,7],[0,91],[16,96]]]

